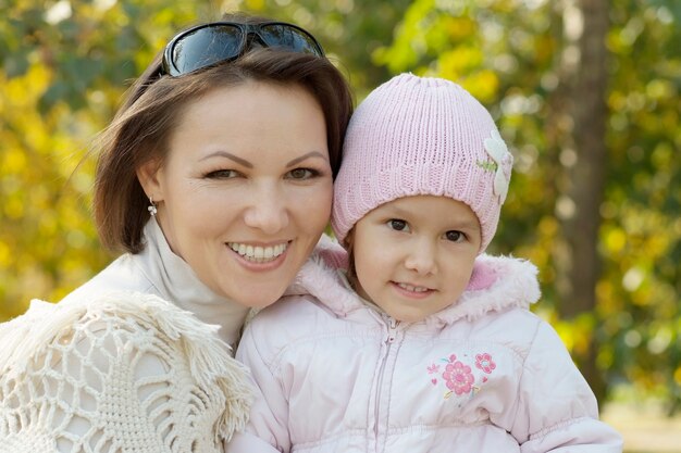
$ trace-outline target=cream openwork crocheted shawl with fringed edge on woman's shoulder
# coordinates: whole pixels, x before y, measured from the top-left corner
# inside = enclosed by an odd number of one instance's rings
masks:
[[[0,325],[0,453],[222,452],[252,392],[216,329],[149,294],[37,301]]]

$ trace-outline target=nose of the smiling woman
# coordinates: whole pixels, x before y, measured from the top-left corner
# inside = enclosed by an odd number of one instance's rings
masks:
[[[276,187],[253,188],[250,205],[244,214],[244,222],[250,228],[268,235],[276,234],[288,226],[288,204],[285,193]]]

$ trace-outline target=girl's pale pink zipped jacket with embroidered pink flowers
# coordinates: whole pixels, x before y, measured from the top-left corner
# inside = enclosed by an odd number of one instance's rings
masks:
[[[460,300],[397,323],[312,256],[237,358],[262,395],[228,452],[621,452],[529,262],[482,255]]]

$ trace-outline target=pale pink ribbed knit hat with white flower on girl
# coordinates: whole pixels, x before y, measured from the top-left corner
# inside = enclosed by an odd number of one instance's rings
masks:
[[[494,119],[442,78],[401,74],[373,90],[348,126],[331,224],[340,243],[369,211],[397,198],[445,196],[468,204],[494,237],[512,156]]]

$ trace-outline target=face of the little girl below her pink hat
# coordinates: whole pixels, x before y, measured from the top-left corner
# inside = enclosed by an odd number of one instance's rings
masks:
[[[369,212],[352,231],[359,295],[413,323],[455,303],[473,272],[481,230],[447,197],[405,197]]]

